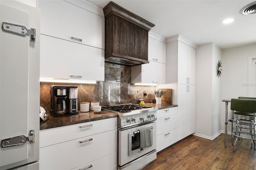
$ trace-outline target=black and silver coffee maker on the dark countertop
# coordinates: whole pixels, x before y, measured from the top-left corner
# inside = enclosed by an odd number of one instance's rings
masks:
[[[77,86],[51,86],[51,112],[53,117],[76,115],[77,112]],[[71,90],[70,90],[71,89]],[[76,89],[74,91],[74,89]],[[72,97],[70,92],[72,91]],[[75,95],[74,95],[75,93]],[[76,99],[75,99],[76,97]],[[72,100],[70,99],[72,98]]]

